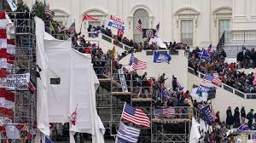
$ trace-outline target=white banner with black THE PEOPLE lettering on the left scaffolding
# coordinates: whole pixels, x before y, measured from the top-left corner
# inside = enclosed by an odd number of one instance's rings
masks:
[[[30,73],[9,74],[6,79],[0,80],[0,88],[24,89],[30,81]]]

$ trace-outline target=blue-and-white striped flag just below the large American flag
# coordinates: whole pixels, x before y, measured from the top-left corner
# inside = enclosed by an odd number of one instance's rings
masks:
[[[141,129],[136,129],[128,125],[125,125],[125,123],[120,122],[116,143],[137,142],[140,132],[141,132]]]

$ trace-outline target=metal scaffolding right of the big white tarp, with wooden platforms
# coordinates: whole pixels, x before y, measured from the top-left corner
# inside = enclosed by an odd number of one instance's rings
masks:
[[[119,77],[120,73],[115,68],[112,60],[108,61],[108,63],[111,64],[94,66],[96,75],[101,83],[96,93],[96,108],[99,116],[102,118],[102,122],[108,124],[107,130],[109,130],[107,132],[109,134],[105,134],[105,140],[108,138],[108,140],[111,139],[113,141],[116,137],[121,114],[126,102],[142,109],[151,121],[150,128],[137,127],[141,129],[138,142],[189,142],[189,129],[191,117],[193,116],[191,107],[175,107],[175,117],[173,118],[154,117],[153,105],[160,91],[154,91],[152,87],[144,86],[145,83],[143,82],[148,81],[138,81],[137,76],[134,76],[133,72],[125,72],[123,76],[125,77],[128,91],[123,92]],[[137,84],[135,83],[136,81],[139,85],[135,85]],[[125,121],[122,122],[126,123]],[[109,135],[113,138],[109,138]]]

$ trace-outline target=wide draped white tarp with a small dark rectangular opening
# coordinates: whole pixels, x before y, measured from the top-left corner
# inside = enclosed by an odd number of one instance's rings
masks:
[[[40,75],[47,85],[46,89],[38,90],[47,92],[45,98],[48,112],[45,117],[49,117],[49,123],[70,123],[71,114],[77,107],[76,125],[72,126],[70,131],[92,134],[93,142],[104,142],[105,129],[96,112],[95,94],[99,81],[93,70],[90,55],[80,54],[72,49],[71,40],[60,41],[47,34],[44,37],[44,42],[40,42],[43,43],[41,49],[45,50],[44,58],[47,59],[48,68],[46,77],[42,77],[41,72]],[[38,40],[42,39],[37,38],[37,43]],[[37,57],[37,60],[40,59]],[[54,82],[58,79],[60,83]],[[45,101],[39,99],[38,102],[44,104]]]

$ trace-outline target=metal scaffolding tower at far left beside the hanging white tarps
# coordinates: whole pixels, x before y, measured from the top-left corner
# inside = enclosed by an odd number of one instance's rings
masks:
[[[14,89],[6,89],[15,93],[15,106],[12,109],[13,117],[11,122],[6,125],[15,125],[20,130],[20,139],[8,139],[12,142],[28,140],[30,142],[33,134],[36,133],[36,92],[29,89],[28,83],[36,85],[36,58],[35,58],[35,23],[33,16],[26,12],[8,13],[10,20],[15,26],[15,33],[11,34],[12,41],[15,43],[14,58],[11,59],[12,65],[7,68],[9,75],[28,73],[29,81],[26,84],[15,84]],[[11,49],[11,48],[9,48]],[[7,140],[5,134],[1,134],[1,140]]]

